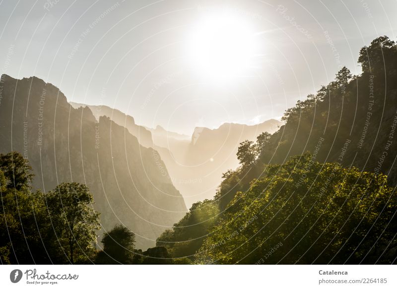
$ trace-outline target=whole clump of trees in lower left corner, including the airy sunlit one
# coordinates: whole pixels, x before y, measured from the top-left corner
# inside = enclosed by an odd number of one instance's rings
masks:
[[[99,214],[91,206],[88,188],[63,183],[47,194],[31,192],[32,177],[28,162],[20,154],[1,155],[1,262],[88,262],[99,229]]]

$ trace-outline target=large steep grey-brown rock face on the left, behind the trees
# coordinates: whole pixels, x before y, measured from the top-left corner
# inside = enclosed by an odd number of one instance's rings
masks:
[[[48,191],[65,181],[85,183],[104,230],[121,223],[136,233],[138,248],[186,212],[165,165],[125,127],[89,108],[74,109],[52,84],[7,75],[0,81],[0,152],[20,152],[36,174],[33,187]]]

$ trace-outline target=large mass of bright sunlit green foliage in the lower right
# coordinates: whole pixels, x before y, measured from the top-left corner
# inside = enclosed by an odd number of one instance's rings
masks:
[[[386,181],[382,174],[315,162],[310,154],[270,165],[265,177],[237,193],[197,262],[391,263],[397,199]]]

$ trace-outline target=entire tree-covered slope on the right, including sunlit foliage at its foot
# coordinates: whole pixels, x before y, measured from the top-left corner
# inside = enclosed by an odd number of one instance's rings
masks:
[[[397,44],[379,37],[358,62],[241,146],[242,166],[157,245],[201,264],[396,263]]]

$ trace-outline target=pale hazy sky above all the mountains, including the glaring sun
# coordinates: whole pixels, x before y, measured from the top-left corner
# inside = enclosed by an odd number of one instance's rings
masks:
[[[361,47],[396,40],[396,11],[396,0],[0,0],[0,72],[191,134],[279,117],[340,65],[360,73]]]

